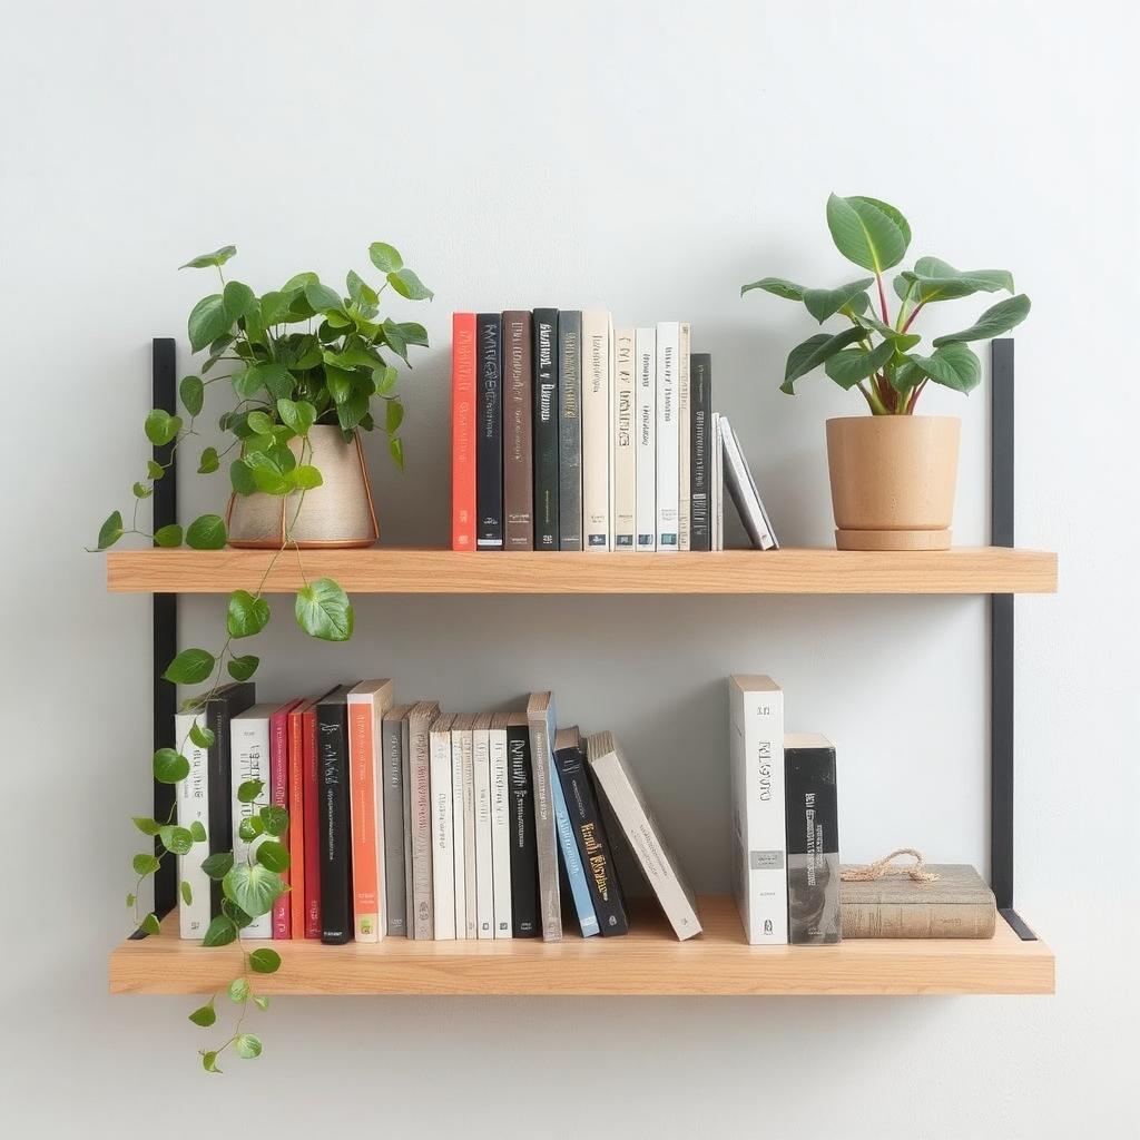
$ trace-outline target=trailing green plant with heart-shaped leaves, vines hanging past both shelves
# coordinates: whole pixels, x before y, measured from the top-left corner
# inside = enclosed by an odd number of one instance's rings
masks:
[[[124,535],[140,535],[158,546],[180,546],[184,540],[195,549],[220,549],[226,545],[226,523],[220,515],[202,515],[185,532],[180,526],[171,524],[152,534],[140,528],[139,508],[174,463],[177,453],[192,440],[201,439],[198,423],[206,389],[213,384],[228,388],[233,406],[218,421],[226,441],[202,447],[197,470],[211,474],[231,456],[228,470],[234,491],[288,497],[286,519],[282,544],[270,556],[260,581],[251,584],[251,589],[237,589],[229,595],[226,636],[220,648],[184,649],[166,667],[163,676],[172,684],[205,685],[184,701],[184,711],[204,709],[226,674],[235,681],[249,681],[255,673],[259,658],[238,652],[236,643],[261,633],[269,624],[264,585],[277,560],[291,548],[296,553],[302,580],[294,605],[298,625],[323,641],[342,642],[352,636],[352,605],[348,595],[331,578],[309,580],[302,552],[292,538],[306,492],[321,484],[320,472],[310,462],[309,431],[315,424],[332,424],[348,440],[357,430],[382,429],[389,454],[402,470],[399,429],[404,407],[394,393],[398,373],[391,360],[399,358],[410,367],[409,347],[427,345],[423,325],[380,317],[380,298],[385,290],[412,301],[432,296],[391,245],[375,242],[368,250],[383,282],[373,286],[350,271],[345,280],[348,295],[323,283],[316,274],[304,272],[258,296],[249,285],[226,279],[222,267],[236,252],[227,245],[182,266],[215,269],[220,279],[220,292],[203,298],[188,321],[190,348],[194,352],[209,350],[206,359],[199,374],[185,376],[179,384],[185,415],[164,408],[147,414],[146,437],[155,447],[169,446],[169,458],[165,463],[154,459],[147,463],[146,478],[133,484],[130,526],[124,523],[121,512],[114,511],[100,528],[96,546],[107,549]],[[177,784],[187,779],[188,741],[197,748],[210,748],[213,733],[195,725],[186,740],[160,748],[153,759],[155,780]],[[238,789],[239,801],[251,805],[238,832],[247,854],[235,861],[233,852],[215,853],[202,863],[210,879],[221,883],[223,896],[221,913],[211,921],[203,945],[236,943],[242,955],[242,974],[227,991],[237,1005],[233,1032],[214,1048],[199,1050],[207,1073],[221,1072],[219,1058],[230,1049],[238,1057],[260,1056],[260,1039],[244,1028],[250,1003],[260,1009],[268,1004],[268,997],[254,992],[253,979],[280,967],[280,955],[271,946],[251,951],[242,944],[242,930],[258,915],[268,914],[288,889],[282,880],[290,862],[288,847],[283,842],[288,813],[267,803],[264,793],[260,780],[246,781]],[[140,852],[131,860],[135,883],[127,895],[127,906],[141,930],[158,934],[157,915],[153,911],[139,913],[142,883],[165,860],[187,855],[196,844],[205,842],[206,831],[197,822],[190,826],[179,824],[173,808],[164,820],[139,816],[133,823],[144,836],[153,837],[155,844],[153,852]],[[185,880],[179,893],[189,905],[193,896]],[[215,999],[217,994],[189,1015],[195,1025],[215,1024]]]

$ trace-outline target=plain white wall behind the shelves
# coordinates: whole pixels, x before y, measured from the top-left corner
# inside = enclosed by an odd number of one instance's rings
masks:
[[[1140,1129],[1135,24],[1109,3],[6,5],[0,1101],[17,1131],[188,1135],[192,1113],[253,1105],[280,1138]],[[824,544],[822,421],[860,408],[822,377],[780,396],[807,319],[738,291],[850,279],[832,189],[897,203],[913,255],[1011,268],[1034,301],[1017,527],[1060,552],[1061,592],[1017,605],[1017,877],[1057,996],[279,1001],[263,1059],[206,1078],[188,1001],[105,994],[149,790],[149,601],[107,595],[81,551],[145,457],[149,340],[181,337],[210,291],[176,267],[234,242],[234,272],[267,288],[361,268],[378,238],[435,288],[401,309],[435,345],[404,384],[407,475],[376,464],[394,544],[446,540],[450,311],[592,301],[692,320],[777,530]],[[986,393],[923,404],[963,416],[956,536],[984,542]],[[221,479],[187,487],[187,515],[222,505]],[[220,606],[184,605],[187,640]],[[727,882],[722,678],[769,670],[791,720],[838,742],[848,857],[914,844],[984,866],[985,612],[359,598],[335,648],[278,602],[261,684],[391,671],[453,708],[552,686],[565,718],[627,741],[709,890]]]

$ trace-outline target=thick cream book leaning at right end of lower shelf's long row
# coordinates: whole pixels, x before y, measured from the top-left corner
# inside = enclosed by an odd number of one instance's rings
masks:
[[[681,865],[669,850],[613,734],[598,732],[587,738],[586,758],[674,934],[682,940],[700,934],[697,897],[682,877]]]

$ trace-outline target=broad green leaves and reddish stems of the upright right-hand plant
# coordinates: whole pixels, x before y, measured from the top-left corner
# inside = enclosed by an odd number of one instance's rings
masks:
[[[911,244],[911,227],[893,205],[862,196],[828,198],[828,228],[839,252],[874,274],[837,288],[806,288],[783,277],[764,277],[741,288],[764,290],[800,301],[819,324],[831,317],[848,321],[837,333],[816,333],[788,353],[782,392],[795,394],[795,383],[820,365],[842,389],[858,389],[877,416],[911,415],[930,382],[969,392],[978,385],[982,364],[970,341],[1009,332],[1029,312],[1025,294],[986,309],[968,328],[936,336],[928,355],[915,351],[922,337],[912,332],[918,315],[940,301],[974,293],[1013,293],[1013,277],[1004,269],[955,269],[938,258],[919,258],[913,269],[891,283],[898,306],[887,306],[882,275],[897,266]],[[871,286],[874,296],[869,295]]]

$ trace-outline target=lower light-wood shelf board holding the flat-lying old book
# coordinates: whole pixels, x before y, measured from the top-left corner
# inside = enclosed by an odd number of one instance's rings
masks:
[[[1051,994],[1053,954],[1002,921],[985,940],[852,940],[838,946],[749,946],[731,898],[699,901],[705,934],[677,942],[649,904],[625,938],[561,943],[408,942],[323,946],[275,942],[266,994]],[[266,944],[268,945],[268,944]],[[230,947],[203,950],[163,933],[111,954],[111,992],[197,994],[223,990],[241,963]]]

